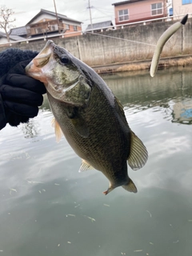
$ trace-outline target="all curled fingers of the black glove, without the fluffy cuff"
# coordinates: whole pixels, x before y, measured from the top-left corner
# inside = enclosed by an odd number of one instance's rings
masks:
[[[23,74],[7,74],[5,84],[0,86],[6,122],[10,126],[18,126],[20,122],[34,118],[45,93],[42,82]]]

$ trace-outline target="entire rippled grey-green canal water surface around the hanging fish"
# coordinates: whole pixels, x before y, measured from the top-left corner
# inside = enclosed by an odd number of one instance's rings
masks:
[[[81,160],[66,139],[55,142],[45,97],[37,118],[1,130],[0,254],[191,255],[191,72],[103,78],[149,152],[142,170],[129,168],[138,194],[118,188],[104,196],[100,172],[78,173]]]

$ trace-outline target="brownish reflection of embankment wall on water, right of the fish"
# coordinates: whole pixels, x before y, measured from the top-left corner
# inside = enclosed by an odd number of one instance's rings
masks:
[[[103,75],[103,78],[128,111],[136,113],[157,107],[172,122],[192,123],[190,69],[161,70],[154,78],[146,72]]]

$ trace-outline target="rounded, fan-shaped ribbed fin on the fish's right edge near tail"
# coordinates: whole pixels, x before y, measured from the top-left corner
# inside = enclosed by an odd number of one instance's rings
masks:
[[[130,137],[130,156],[127,160],[131,169],[138,170],[142,168],[142,166],[145,166],[148,158],[148,152],[146,150],[146,146],[143,145],[142,141],[132,130]]]

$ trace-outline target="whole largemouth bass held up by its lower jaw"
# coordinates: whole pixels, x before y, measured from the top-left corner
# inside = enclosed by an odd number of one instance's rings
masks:
[[[130,130],[122,104],[102,78],[52,41],[26,66],[26,74],[44,82],[56,137],[62,131],[82,158],[80,171],[100,170],[110,181],[104,194],[118,186],[136,193],[127,161],[138,170],[146,164],[147,150]]]

